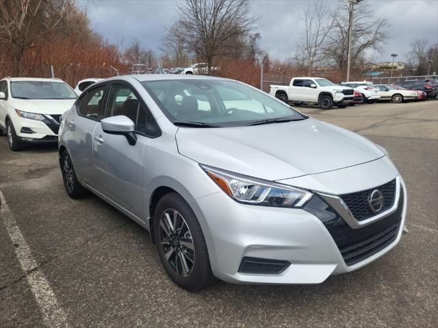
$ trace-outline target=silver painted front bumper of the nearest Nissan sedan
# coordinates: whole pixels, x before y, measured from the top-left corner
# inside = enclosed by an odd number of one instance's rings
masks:
[[[205,235],[211,269],[216,277],[231,283],[318,284],[330,275],[363,267],[383,256],[400,241],[407,211],[403,182],[401,188],[404,197],[398,210],[400,218],[394,240],[350,266],[316,212],[310,213],[305,208],[240,204],[222,192],[190,203],[197,209],[196,215],[202,216],[207,223],[208,232]],[[377,222],[383,220],[385,217]],[[238,272],[244,257],[284,260],[291,264],[279,274]]]

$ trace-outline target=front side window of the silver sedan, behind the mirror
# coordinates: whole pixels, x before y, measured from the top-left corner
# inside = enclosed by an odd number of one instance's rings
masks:
[[[153,115],[129,87],[114,84],[108,100],[108,116],[125,115],[136,124],[136,132],[155,137],[159,128]]]

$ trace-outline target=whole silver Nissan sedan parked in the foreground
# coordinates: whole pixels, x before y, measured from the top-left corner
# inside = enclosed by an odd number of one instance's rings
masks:
[[[149,230],[188,290],[324,282],[387,253],[406,217],[384,148],[229,79],[99,81],[62,116],[59,152],[68,195]]]

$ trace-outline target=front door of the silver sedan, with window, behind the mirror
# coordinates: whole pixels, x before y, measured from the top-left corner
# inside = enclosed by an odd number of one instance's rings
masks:
[[[105,133],[97,124],[93,133],[96,188],[137,217],[144,217],[142,163],[145,147],[159,128],[136,90],[125,81],[112,83],[105,117],[125,115],[136,125],[137,142],[124,135]]]

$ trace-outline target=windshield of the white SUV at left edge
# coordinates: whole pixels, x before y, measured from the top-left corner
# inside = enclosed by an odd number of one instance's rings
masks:
[[[64,82],[12,81],[12,98],[22,99],[76,99],[77,94]]]

